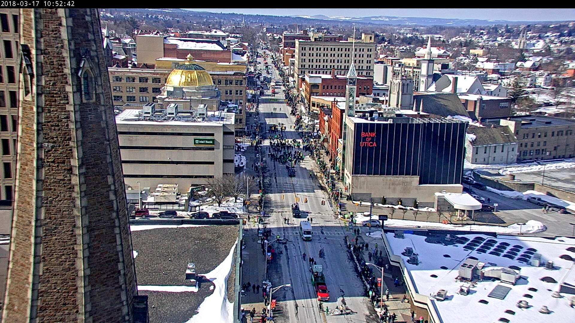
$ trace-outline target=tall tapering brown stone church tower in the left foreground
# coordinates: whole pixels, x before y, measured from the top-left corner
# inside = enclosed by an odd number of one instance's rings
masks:
[[[21,9],[2,322],[134,322],[131,234],[96,9]]]

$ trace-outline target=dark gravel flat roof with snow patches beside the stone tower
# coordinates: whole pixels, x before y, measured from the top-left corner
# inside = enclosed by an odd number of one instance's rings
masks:
[[[206,322],[210,317],[213,322],[227,321],[220,312],[227,308],[231,313],[236,301],[239,226],[131,225],[130,229],[138,293],[148,295],[150,322]],[[197,275],[205,275],[198,279],[198,289],[185,279],[188,263],[196,264]],[[219,306],[217,313],[214,305]]]

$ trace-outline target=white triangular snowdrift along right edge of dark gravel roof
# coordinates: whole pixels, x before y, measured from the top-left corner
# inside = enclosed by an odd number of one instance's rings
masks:
[[[216,286],[212,295],[204,299],[198,307],[198,313],[190,318],[186,323],[204,322],[232,322],[233,303],[228,301],[228,277],[232,272],[233,252],[236,244],[233,244],[225,260],[216,269],[204,274]]]

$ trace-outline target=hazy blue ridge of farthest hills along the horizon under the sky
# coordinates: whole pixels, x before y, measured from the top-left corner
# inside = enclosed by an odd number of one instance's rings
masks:
[[[424,17],[393,17],[393,16],[369,16],[369,17],[344,17],[344,16],[290,16],[294,18],[308,18],[328,21],[363,22],[375,25],[419,25],[419,26],[467,26],[467,25],[527,25],[538,22],[559,22],[559,21],[507,21],[507,20],[482,20],[482,19],[457,19],[457,18],[424,18]],[[563,21],[561,21],[563,22]]]

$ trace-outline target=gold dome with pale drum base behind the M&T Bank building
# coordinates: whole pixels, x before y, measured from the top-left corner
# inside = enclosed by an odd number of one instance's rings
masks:
[[[176,103],[180,110],[195,110],[205,104],[208,111],[220,108],[221,91],[214,85],[212,76],[203,67],[193,63],[193,57],[174,68],[158,96],[158,103],[166,106]]]

